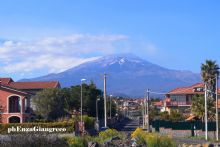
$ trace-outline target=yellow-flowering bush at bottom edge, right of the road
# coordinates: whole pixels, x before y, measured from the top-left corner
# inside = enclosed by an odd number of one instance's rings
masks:
[[[148,147],[175,147],[174,141],[167,136],[160,136],[156,133],[146,133],[141,128],[137,128],[132,134],[138,145]]]

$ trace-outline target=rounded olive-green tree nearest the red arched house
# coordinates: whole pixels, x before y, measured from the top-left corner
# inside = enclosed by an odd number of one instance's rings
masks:
[[[33,98],[36,114],[47,120],[58,119],[66,115],[64,110],[65,93],[62,89],[44,89]]]

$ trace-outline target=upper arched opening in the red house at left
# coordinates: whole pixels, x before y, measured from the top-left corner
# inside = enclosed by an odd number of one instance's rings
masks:
[[[20,113],[21,112],[21,100],[18,96],[9,97],[9,113]]]

